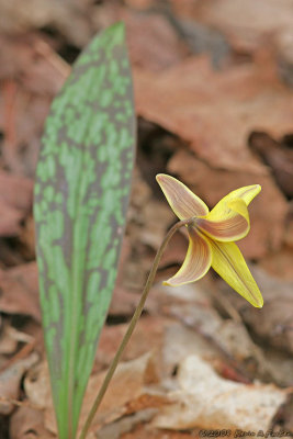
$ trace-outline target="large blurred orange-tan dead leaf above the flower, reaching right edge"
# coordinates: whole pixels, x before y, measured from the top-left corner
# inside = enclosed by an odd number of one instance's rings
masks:
[[[246,145],[249,133],[293,130],[293,92],[280,86],[270,64],[218,72],[206,58],[191,57],[156,75],[136,69],[134,79],[138,113],[189,142],[216,168],[266,175]]]

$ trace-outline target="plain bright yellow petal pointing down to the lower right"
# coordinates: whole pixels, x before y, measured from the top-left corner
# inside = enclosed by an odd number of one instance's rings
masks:
[[[213,269],[251,305],[261,308],[262,295],[236,244],[211,240],[211,246]]]

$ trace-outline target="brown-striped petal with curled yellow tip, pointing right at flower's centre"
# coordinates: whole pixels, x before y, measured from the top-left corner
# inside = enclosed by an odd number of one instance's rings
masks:
[[[244,200],[235,199],[227,203],[227,213],[221,219],[198,218],[196,226],[207,236],[221,241],[232,241],[244,238],[250,228],[249,214]]]

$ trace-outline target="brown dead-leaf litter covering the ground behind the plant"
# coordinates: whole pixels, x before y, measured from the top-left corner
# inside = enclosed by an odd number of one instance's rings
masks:
[[[157,172],[180,178],[210,207],[240,185],[262,185],[239,246],[253,262],[264,307],[252,309],[213,273],[178,290],[161,286],[185,252],[184,234],[176,235],[91,437],[292,429],[292,2],[93,3],[30,1],[24,13],[18,1],[0,2],[0,436],[56,438],[40,339],[34,168],[68,61],[119,19],[126,22],[140,117],[137,165],[120,274],[83,410],[176,221],[155,185]]]

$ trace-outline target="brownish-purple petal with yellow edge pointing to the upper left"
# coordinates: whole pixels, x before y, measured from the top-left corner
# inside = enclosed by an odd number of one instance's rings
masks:
[[[207,205],[181,181],[166,173],[158,173],[156,179],[172,211],[180,219],[204,216],[209,213]]]

